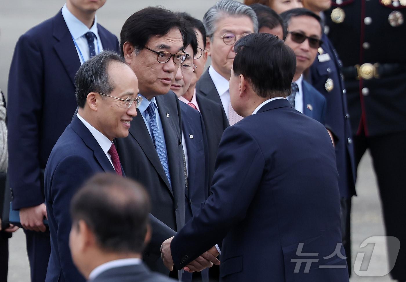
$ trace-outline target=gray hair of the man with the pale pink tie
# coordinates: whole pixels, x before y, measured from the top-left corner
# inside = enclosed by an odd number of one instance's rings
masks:
[[[213,7],[207,10],[203,17],[203,25],[206,34],[210,39],[213,39],[213,34],[216,31],[216,23],[222,16],[247,16],[254,25],[254,32],[258,32],[258,20],[254,10],[235,0],[220,0]]]

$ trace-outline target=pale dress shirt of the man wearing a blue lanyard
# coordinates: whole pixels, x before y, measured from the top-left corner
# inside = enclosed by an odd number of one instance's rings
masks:
[[[75,17],[69,9],[66,7],[66,4],[62,7],[62,16],[65,20],[65,23],[71,33],[74,42],[76,42],[76,51],[78,52],[80,63],[83,64],[84,61],[89,60],[89,45],[87,44],[87,39],[84,37],[89,31],[93,32],[96,36],[96,40],[93,42],[95,44],[96,54],[99,54],[103,51],[102,40],[100,40],[99,33],[97,32],[97,16],[95,15],[95,21],[93,26],[89,29],[84,23],[82,23],[77,17]],[[82,56],[80,55],[82,54]]]

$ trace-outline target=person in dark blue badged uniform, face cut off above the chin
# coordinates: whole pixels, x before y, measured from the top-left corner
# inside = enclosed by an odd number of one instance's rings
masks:
[[[303,5],[321,15],[330,8],[331,1],[306,0]],[[324,32],[322,40],[322,46],[317,50],[317,58],[310,67],[310,81],[327,101],[325,126],[334,137],[337,170],[340,175],[338,184],[341,195],[341,234],[347,254],[348,271],[351,274],[350,211],[351,196],[355,195],[356,176],[354,145],[345,95],[347,91],[340,73],[342,64]]]

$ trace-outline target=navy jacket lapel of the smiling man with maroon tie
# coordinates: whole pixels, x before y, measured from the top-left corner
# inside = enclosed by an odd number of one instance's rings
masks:
[[[80,138],[82,138],[86,146],[93,150],[93,154],[103,170],[106,172],[115,172],[114,167],[111,165],[99,143],[97,143],[95,137],[93,137],[89,129],[87,129],[87,127],[82,123],[82,121],[80,121],[77,116],[73,117],[71,126],[72,129],[80,136]]]

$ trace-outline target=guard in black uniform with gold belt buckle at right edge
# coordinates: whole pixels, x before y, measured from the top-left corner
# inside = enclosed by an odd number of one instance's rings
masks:
[[[391,275],[405,281],[406,0],[335,0],[325,15],[343,62],[356,165],[369,148],[386,234],[400,240]]]

